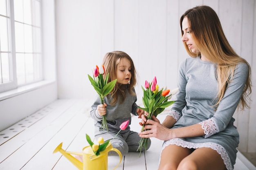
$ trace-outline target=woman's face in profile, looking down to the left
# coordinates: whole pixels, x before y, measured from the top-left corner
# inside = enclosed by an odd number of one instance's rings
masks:
[[[186,45],[193,53],[200,52],[195,46],[195,42],[191,36],[188,18],[184,17],[182,21],[182,31],[184,32],[182,36],[182,42],[186,42]]]

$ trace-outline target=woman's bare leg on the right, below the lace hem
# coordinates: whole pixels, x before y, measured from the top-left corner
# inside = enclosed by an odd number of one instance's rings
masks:
[[[179,164],[177,170],[226,170],[223,159],[211,148],[195,149]]]

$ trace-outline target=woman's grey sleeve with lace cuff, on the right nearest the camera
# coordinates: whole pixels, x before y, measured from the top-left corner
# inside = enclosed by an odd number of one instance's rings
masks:
[[[249,67],[247,64],[241,63],[237,65],[234,77],[228,84],[216,113],[210,119],[199,123],[204,129],[205,138],[227,128],[243,95],[248,74]]]

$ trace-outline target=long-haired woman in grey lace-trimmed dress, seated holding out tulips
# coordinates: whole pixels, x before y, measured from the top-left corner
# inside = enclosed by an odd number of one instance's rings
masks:
[[[159,170],[232,170],[239,135],[232,117],[248,108],[251,69],[231,48],[216,12],[208,6],[180,18],[182,42],[191,56],[181,63],[179,92],[162,124],[141,124],[140,137],[164,140]]]

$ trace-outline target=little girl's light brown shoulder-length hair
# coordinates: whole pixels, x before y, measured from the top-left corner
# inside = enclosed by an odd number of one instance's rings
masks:
[[[131,95],[136,95],[134,89],[134,86],[137,83],[137,72],[135,69],[135,66],[133,64],[133,61],[131,57],[126,54],[123,51],[112,51],[110,53],[106,53],[105,57],[103,58],[103,65],[105,67],[105,76],[109,73],[108,82],[111,82],[112,80],[117,78],[117,65],[119,62],[122,62],[122,59],[126,58],[130,61],[131,64],[131,79],[128,87],[128,92]],[[113,98],[111,104],[115,105],[117,103],[117,99],[120,97],[119,101],[122,103],[124,102],[124,99],[126,98],[126,86],[123,84],[116,83],[115,87],[113,88],[111,94],[111,97]]]

